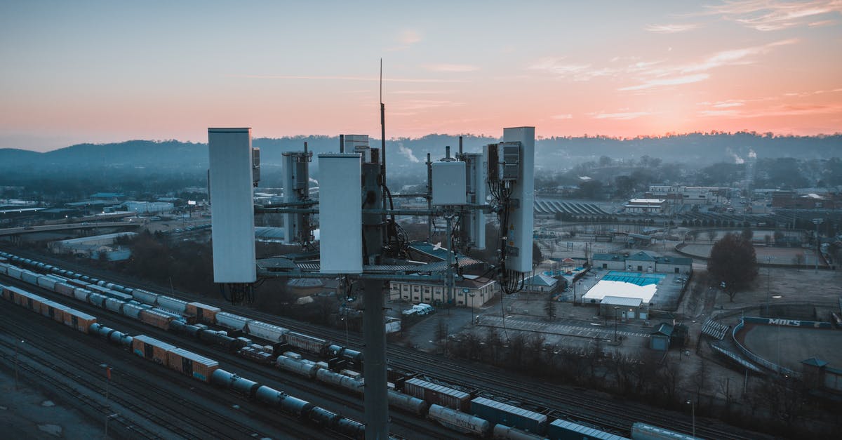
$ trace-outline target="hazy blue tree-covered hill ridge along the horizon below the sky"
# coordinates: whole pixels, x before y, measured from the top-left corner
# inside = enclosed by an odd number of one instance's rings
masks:
[[[300,136],[280,139],[258,137],[261,161],[269,169],[280,166],[281,153],[300,151],[304,142],[314,154],[338,152],[338,137]],[[498,142],[492,137],[466,135],[464,151],[479,152],[482,145]],[[380,141],[371,139],[372,147]],[[419,138],[397,138],[386,142],[390,174],[424,174],[427,153],[433,160],[458,152],[457,136],[431,134]],[[830,158],[842,154],[842,135],[821,137],[773,137],[759,133],[691,133],[669,137],[552,137],[536,140],[536,168],[547,171],[570,169],[576,164],[612,159],[660,158],[701,167],[721,162],[739,163],[749,155],[758,158]],[[107,144],[84,143],[47,153],[13,148],[0,149],[0,170],[29,172],[83,172],[85,169],[154,169],[195,174],[207,169],[207,145],[179,141],[127,141]],[[313,161],[317,174],[317,160]]]

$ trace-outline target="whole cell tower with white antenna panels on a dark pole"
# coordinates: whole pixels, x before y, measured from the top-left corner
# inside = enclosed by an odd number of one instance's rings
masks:
[[[385,122],[381,105],[381,124]],[[381,131],[385,138],[385,128]],[[482,249],[486,213],[499,219],[495,261],[504,292],[523,287],[532,264],[532,209],[535,127],[505,128],[503,142],[482,153],[445,157],[432,162],[428,155],[427,209],[393,205],[386,186],[385,141],[370,148],[368,136],[340,136],[338,153],[318,155],[319,201],[309,199],[309,163],[312,152],[284,153],[284,203],[254,207],[254,157],[248,128],[210,128],[210,193],[213,223],[214,281],[232,292],[250,292],[257,278],[339,277],[363,291],[365,347],[365,437],[389,436],[386,388],[385,283],[400,280],[445,282],[448,300],[459,276],[456,249]],[[382,141],[382,140],[381,140]],[[491,196],[487,202],[487,195]],[[418,195],[414,195],[418,196]],[[254,213],[285,216],[286,240],[308,242],[309,219],[318,214],[319,260],[293,257],[256,261]],[[447,261],[418,263],[408,260],[408,240],[395,217],[401,215],[445,218]],[[236,298],[236,297],[235,297]]]

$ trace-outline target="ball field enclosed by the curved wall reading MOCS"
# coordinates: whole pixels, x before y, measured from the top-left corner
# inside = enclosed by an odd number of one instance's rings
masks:
[[[752,325],[743,330],[745,346],[759,357],[801,371],[801,362],[818,357],[842,368],[842,331],[786,325]]]

